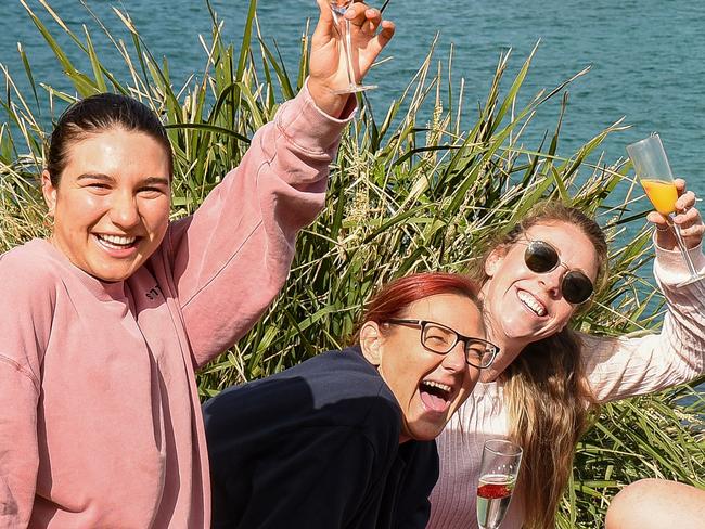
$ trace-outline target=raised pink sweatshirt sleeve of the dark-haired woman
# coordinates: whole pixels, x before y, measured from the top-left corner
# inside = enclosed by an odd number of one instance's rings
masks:
[[[298,231],[321,210],[329,164],[351,119],[323,114],[308,89],[254,136],[240,166],[170,233],[174,275],[197,365],[231,347],[279,293]]]

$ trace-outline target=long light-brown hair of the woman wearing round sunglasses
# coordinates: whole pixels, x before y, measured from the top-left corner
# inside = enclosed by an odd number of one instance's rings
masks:
[[[489,254],[509,247],[537,224],[564,222],[580,229],[598,256],[600,291],[607,276],[607,243],[597,222],[579,209],[555,202],[534,207],[509,233],[489,244],[471,269],[480,283],[489,280],[484,263]],[[585,311],[589,304],[580,306]],[[568,326],[529,344],[501,375],[510,414],[510,439],[524,450],[517,492],[524,501],[525,525],[554,527],[559,501],[571,476],[575,446],[586,428],[593,399],[581,362],[582,344]]]

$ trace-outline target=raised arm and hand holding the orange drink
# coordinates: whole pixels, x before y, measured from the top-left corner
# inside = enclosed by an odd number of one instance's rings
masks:
[[[680,197],[675,222],[698,271],[705,270],[701,241],[705,227],[695,195],[677,181]],[[667,302],[661,333],[645,336],[601,338],[582,336],[584,360],[598,402],[643,395],[685,383],[705,372],[705,282],[680,285],[689,278],[676,240],[661,215],[651,212],[655,224],[654,275]]]

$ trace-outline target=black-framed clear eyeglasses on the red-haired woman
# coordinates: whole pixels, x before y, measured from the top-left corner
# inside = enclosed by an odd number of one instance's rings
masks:
[[[440,323],[426,320],[386,320],[385,323],[394,325],[408,325],[421,330],[421,345],[424,349],[438,354],[448,354],[456,344],[463,344],[465,362],[480,370],[489,367],[499,352],[491,341],[472,336],[463,336],[452,328]]]

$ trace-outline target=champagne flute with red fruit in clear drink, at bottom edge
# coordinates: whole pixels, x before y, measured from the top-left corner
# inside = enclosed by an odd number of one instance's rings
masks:
[[[502,524],[522,463],[522,448],[504,439],[489,439],[483,448],[477,483],[477,524],[497,529]]]

